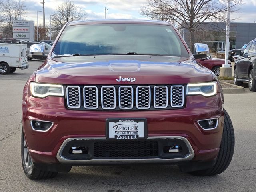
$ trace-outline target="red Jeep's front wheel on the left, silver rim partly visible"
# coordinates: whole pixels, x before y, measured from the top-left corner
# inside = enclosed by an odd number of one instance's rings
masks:
[[[58,174],[58,172],[40,170],[34,166],[23,130],[21,134],[21,161],[24,173],[29,179],[53,178]]]

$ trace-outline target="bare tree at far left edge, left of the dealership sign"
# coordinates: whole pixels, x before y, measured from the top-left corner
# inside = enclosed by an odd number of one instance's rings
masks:
[[[26,11],[24,2],[21,0],[4,0],[0,11],[1,19],[4,24],[2,30],[6,37],[12,37],[13,21],[18,20],[19,16]]]

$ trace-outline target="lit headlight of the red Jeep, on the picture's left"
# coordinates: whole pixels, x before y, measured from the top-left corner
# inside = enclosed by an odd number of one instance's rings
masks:
[[[64,96],[64,88],[62,85],[30,83],[31,94],[35,97],[44,98],[47,96]]]

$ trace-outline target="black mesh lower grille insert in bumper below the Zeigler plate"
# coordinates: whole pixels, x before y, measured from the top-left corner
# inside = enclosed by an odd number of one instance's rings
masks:
[[[157,157],[158,141],[96,141],[95,158]]]

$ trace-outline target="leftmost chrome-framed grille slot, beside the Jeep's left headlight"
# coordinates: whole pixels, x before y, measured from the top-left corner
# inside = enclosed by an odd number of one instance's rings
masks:
[[[67,105],[69,108],[80,108],[81,106],[81,94],[79,86],[67,87]]]

